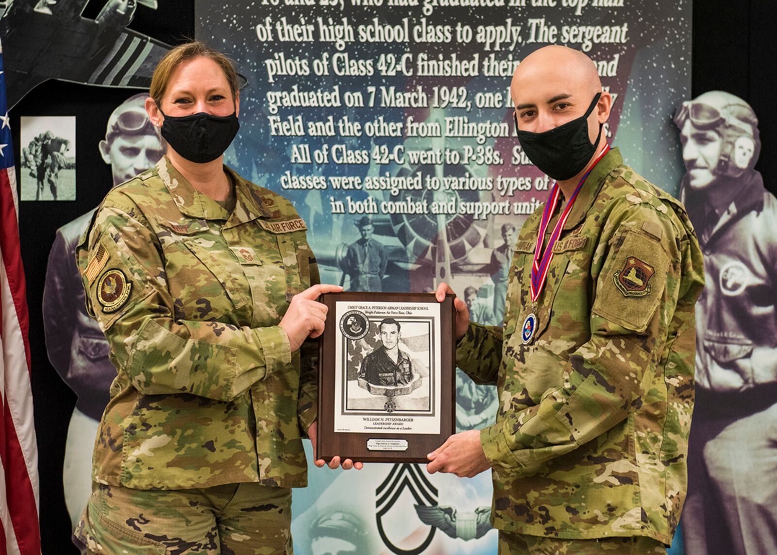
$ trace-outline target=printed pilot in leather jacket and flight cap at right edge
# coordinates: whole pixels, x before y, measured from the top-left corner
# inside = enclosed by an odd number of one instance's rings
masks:
[[[777,544],[777,200],[754,169],[758,118],[710,91],[683,103],[681,198],[707,282],[696,305],[696,407],[683,539],[688,555]]]

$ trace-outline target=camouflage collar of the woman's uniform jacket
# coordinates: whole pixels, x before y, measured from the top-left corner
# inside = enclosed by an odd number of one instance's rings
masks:
[[[214,201],[207,194],[200,193],[192,187],[186,178],[172,165],[165,155],[156,164],[159,177],[175,201],[176,206],[183,215],[190,218],[204,218],[206,220],[226,220],[229,225],[237,225],[242,222],[250,222],[256,218],[274,217],[274,200],[270,195],[261,195],[256,187],[242,178],[235,170],[224,166],[224,171],[235,184],[235,209],[232,215]],[[269,199],[269,200],[268,200]]]

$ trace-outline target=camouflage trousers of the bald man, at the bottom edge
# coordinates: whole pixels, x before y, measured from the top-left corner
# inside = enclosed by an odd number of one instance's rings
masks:
[[[499,531],[499,555],[666,555],[667,548],[645,536],[601,539],[560,539]]]

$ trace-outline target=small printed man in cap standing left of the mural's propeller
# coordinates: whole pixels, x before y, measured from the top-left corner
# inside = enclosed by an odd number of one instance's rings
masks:
[[[350,275],[350,291],[383,291],[383,274],[389,257],[381,243],[372,239],[372,218],[362,216],[357,223],[361,239],[348,246],[343,268]]]

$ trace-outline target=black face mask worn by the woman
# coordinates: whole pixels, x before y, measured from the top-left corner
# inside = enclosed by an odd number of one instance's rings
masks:
[[[224,154],[235,138],[240,122],[237,113],[229,116],[212,116],[199,112],[190,116],[166,116],[162,123],[162,137],[183,158],[204,164]]]

